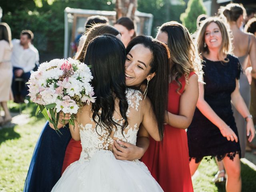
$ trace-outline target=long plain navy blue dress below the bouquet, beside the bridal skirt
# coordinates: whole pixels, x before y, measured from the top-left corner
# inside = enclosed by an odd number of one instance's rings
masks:
[[[38,138],[23,192],[50,192],[61,177],[66,147],[71,139],[68,127],[58,135],[46,122]]]

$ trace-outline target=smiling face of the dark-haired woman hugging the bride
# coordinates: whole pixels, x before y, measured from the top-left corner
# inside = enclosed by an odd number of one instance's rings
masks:
[[[133,46],[126,56],[126,86],[139,87],[146,78],[151,79],[152,74],[149,74],[151,61],[152,53],[150,49],[145,48],[142,44]]]

